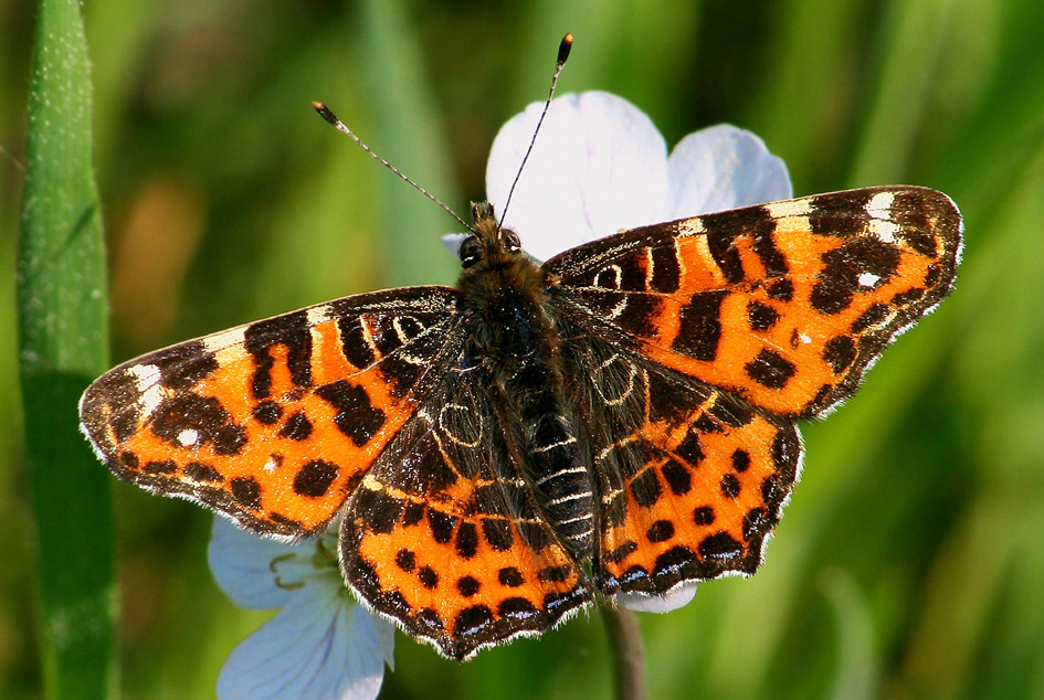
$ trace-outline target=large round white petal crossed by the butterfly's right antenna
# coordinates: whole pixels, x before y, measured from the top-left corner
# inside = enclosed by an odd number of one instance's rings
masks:
[[[542,108],[529,105],[493,142],[486,193],[497,212]],[[663,221],[666,153],[660,131],[628,100],[600,92],[563,95],[551,103],[504,223],[528,253],[547,259],[621,229]]]

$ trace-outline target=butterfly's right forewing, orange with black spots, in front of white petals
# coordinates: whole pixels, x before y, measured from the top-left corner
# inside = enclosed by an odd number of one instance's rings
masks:
[[[960,214],[924,188],[871,188],[635,229],[548,268],[574,314],[773,413],[850,396],[949,293]],[[583,321],[581,321],[583,322]],[[604,331],[603,331],[604,332]]]

